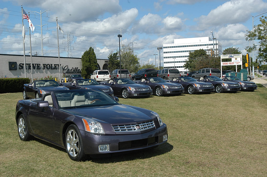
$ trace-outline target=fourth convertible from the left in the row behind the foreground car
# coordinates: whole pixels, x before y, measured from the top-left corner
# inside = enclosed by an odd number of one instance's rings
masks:
[[[164,94],[184,93],[184,88],[181,84],[170,83],[160,77],[148,77],[141,81],[135,81],[138,84],[148,85],[153,89],[153,94],[156,96],[163,96]]]

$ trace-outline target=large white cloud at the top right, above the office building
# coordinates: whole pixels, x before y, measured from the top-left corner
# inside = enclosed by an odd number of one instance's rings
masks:
[[[245,22],[251,18],[251,13],[266,8],[267,3],[262,0],[231,0],[194,20],[198,23],[197,30],[201,31],[211,26]]]

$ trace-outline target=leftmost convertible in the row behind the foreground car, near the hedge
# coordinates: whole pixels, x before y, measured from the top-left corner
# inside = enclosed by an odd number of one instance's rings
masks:
[[[42,95],[55,90],[69,90],[67,87],[60,86],[54,80],[36,80],[32,84],[23,85],[23,99],[40,98]]]

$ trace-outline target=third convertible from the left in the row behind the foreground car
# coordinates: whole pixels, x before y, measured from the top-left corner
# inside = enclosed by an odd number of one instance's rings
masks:
[[[117,78],[109,80],[108,83],[101,83],[103,85],[109,86],[114,90],[115,96],[120,96],[123,98],[138,97],[152,95],[152,89],[147,85],[136,84],[131,79],[127,78]]]

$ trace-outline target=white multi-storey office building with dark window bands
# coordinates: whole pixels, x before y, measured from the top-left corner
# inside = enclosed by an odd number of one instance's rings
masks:
[[[213,41],[209,37],[174,39],[174,43],[163,44],[164,68],[186,71],[183,65],[189,52],[199,49],[205,50],[209,55],[222,55],[222,44],[218,40]]]

